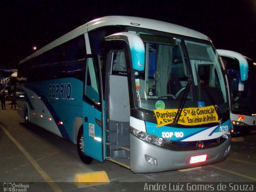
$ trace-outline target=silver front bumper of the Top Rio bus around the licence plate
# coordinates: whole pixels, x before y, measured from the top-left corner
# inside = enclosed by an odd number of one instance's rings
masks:
[[[130,134],[130,168],[134,173],[162,172],[203,166],[223,161],[230,150],[231,138],[214,148],[172,151],[142,141]],[[190,164],[191,156],[207,154],[205,162]],[[157,160],[157,166],[146,161],[146,156]]]

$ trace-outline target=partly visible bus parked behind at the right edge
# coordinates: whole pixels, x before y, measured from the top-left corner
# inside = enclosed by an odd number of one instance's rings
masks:
[[[230,50],[217,50],[224,63],[230,91],[230,119],[234,135],[256,128],[256,68],[253,61]]]

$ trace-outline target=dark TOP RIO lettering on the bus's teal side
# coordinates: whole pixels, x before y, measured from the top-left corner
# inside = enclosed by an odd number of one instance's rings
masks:
[[[72,86],[70,83],[62,83],[62,84],[50,84],[49,85],[49,97],[50,98],[58,98],[58,94],[60,93],[62,99],[70,99],[72,94]]]

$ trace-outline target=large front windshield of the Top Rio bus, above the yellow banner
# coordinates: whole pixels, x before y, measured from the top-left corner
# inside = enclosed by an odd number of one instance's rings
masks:
[[[223,70],[209,42],[148,34],[140,38],[146,59],[145,70],[134,71],[138,107],[178,109],[184,102],[184,108],[214,105],[220,114],[228,110]]]

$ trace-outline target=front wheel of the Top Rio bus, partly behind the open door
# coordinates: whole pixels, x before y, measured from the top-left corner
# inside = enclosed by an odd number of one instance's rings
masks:
[[[76,143],[77,143],[76,145],[77,145],[78,154],[79,154],[79,157],[82,160],[82,162],[84,162],[85,164],[91,164],[92,162],[94,162],[93,158],[84,154],[84,129],[83,129],[83,126],[81,126],[78,131]]]

